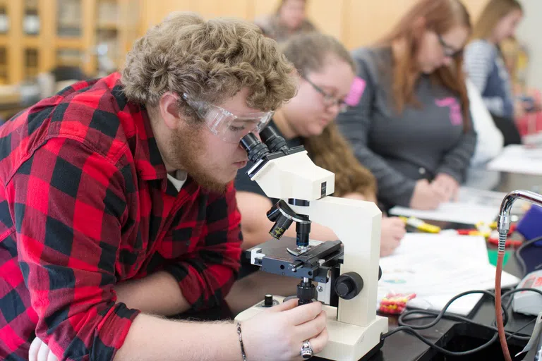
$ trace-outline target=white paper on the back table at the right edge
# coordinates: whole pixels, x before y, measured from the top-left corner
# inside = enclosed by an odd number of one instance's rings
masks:
[[[542,175],[542,149],[508,145],[488,164],[490,171]]]

